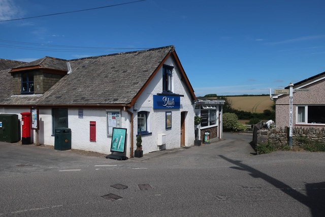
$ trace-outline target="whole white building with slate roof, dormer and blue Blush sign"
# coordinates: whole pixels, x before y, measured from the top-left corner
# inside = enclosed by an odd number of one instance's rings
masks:
[[[21,120],[20,113],[38,108],[40,144],[54,145],[58,127],[71,129],[73,149],[107,154],[112,129],[124,128],[127,157],[133,157],[139,133],[143,153],[194,144],[196,97],[173,46],[71,60],[44,57],[0,76],[0,113]],[[36,136],[34,130],[34,142]]]

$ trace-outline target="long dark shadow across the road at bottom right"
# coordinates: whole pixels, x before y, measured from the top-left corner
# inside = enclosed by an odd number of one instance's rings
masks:
[[[312,216],[324,216],[325,213],[325,182],[318,183],[306,183],[307,196],[298,192],[297,190],[291,188],[289,185],[283,183],[282,181],[275,179],[261,171],[258,171],[246,164],[241,163],[241,161],[232,160],[219,155],[220,158],[237,165],[237,167],[231,167],[232,169],[244,170],[250,172],[254,178],[262,178],[265,181],[272,184],[277,189],[281,190],[283,193],[289,195],[295,200],[301,202],[302,204],[308,206],[311,210]]]

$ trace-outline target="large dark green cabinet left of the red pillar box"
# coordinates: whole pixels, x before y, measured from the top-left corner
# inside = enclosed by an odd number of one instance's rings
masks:
[[[17,114],[0,114],[0,141],[19,141],[19,119]]]

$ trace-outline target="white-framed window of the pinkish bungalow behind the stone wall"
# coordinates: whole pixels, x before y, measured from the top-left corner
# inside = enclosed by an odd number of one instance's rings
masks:
[[[325,124],[325,105],[296,107],[296,123]]]

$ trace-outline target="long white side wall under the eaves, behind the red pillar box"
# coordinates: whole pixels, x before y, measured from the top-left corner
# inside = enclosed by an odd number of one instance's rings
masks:
[[[130,115],[121,110],[83,109],[83,118],[79,118],[78,109],[68,109],[68,127],[71,129],[71,148],[87,151],[96,151],[109,154],[111,136],[107,136],[106,111],[119,111],[121,114],[121,128],[126,128],[126,156],[130,156]],[[18,114],[21,121],[22,112],[30,112],[30,108],[0,108],[0,113]],[[39,109],[40,112],[40,144],[53,145],[52,136],[52,109]],[[96,141],[90,142],[90,121],[96,121]],[[21,135],[21,132],[20,132]],[[32,130],[35,142],[35,130]]]

